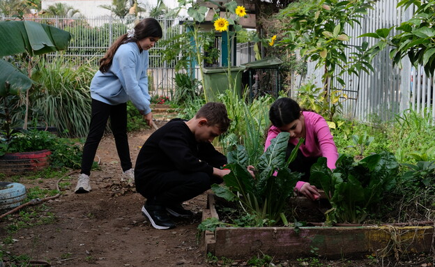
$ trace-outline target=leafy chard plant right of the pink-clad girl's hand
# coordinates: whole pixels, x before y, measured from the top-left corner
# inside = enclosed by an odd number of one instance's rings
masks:
[[[311,169],[310,183],[319,185],[332,208],[326,212],[326,223],[361,223],[395,187],[399,164],[394,155],[383,151],[355,162],[340,155],[332,171],[326,158],[320,158]]]

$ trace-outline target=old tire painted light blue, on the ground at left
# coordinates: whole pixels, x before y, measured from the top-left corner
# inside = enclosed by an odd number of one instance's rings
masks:
[[[0,210],[15,208],[26,199],[26,188],[21,183],[0,182]]]

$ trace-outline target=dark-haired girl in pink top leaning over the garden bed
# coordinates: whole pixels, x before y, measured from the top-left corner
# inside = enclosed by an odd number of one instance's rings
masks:
[[[290,163],[289,168],[291,171],[303,173],[302,181],[296,183],[295,191],[309,199],[319,199],[317,188],[307,183],[310,178],[310,168],[318,158],[325,157],[328,167],[335,169],[338,158],[337,147],[328,123],[315,112],[302,111],[298,103],[291,98],[275,100],[270,106],[269,119],[273,125],[268,130],[265,151],[270,146],[270,141],[280,132],[289,132],[287,159],[299,139],[304,138],[305,142],[300,145],[296,160]]]

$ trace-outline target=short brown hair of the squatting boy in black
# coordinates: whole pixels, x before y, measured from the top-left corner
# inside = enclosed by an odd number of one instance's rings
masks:
[[[209,126],[217,125],[221,132],[227,132],[231,120],[228,118],[227,107],[220,102],[208,102],[202,106],[196,118],[206,118]]]

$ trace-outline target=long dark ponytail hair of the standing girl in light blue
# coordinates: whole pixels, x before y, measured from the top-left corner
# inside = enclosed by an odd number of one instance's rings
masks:
[[[110,66],[112,66],[112,61],[116,50],[118,50],[120,45],[130,42],[137,42],[138,40],[142,40],[147,37],[158,37],[162,38],[163,31],[162,26],[158,23],[157,20],[152,17],[148,17],[144,20],[141,20],[135,26],[135,36],[127,37],[127,33],[124,33],[122,36],[119,36],[118,40],[116,40],[111,47],[107,50],[105,56],[100,59],[100,71],[102,73],[107,72]]]

